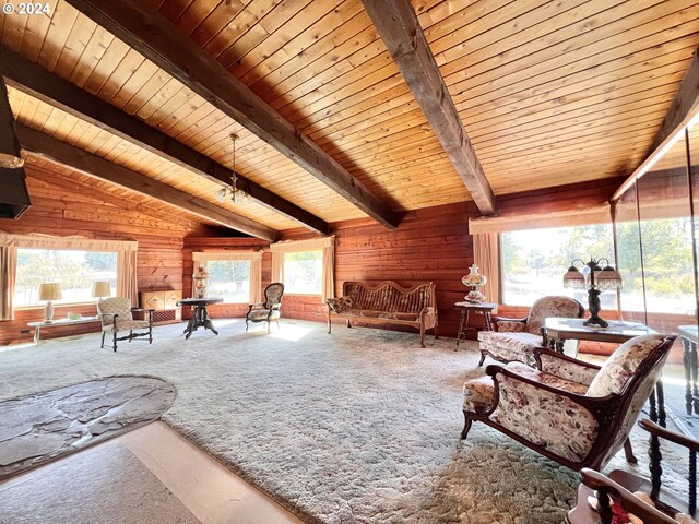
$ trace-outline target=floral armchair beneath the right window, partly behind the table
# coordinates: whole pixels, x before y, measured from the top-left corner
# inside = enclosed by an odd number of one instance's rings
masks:
[[[478,342],[481,343],[478,366],[483,365],[486,355],[490,355],[501,362],[518,360],[533,364],[534,349],[544,343],[542,336],[544,319],[547,317],[580,319],[584,311],[582,305],[574,298],[554,296],[536,300],[524,319],[493,317],[495,331],[478,333]]]

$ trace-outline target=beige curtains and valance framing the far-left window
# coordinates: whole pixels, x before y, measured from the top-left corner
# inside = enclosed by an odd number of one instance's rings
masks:
[[[52,237],[49,235],[12,235],[0,231],[0,320],[14,317],[12,297],[16,284],[17,248],[74,249],[117,252],[117,296],[138,306],[137,252],[134,240],[102,240],[83,237]]]

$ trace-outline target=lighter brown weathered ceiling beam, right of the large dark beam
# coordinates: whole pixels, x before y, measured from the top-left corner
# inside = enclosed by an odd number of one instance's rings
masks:
[[[493,189],[410,0],[362,1],[478,210],[495,214]]]

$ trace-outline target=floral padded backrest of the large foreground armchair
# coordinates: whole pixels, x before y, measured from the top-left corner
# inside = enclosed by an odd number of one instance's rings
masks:
[[[620,393],[640,364],[662,344],[665,335],[642,335],[625,342],[606,359],[588,389],[588,396]]]

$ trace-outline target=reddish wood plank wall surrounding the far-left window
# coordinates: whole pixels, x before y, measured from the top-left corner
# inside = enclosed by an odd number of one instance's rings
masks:
[[[213,233],[178,213],[164,213],[142,201],[135,203],[86,177],[78,181],[71,175],[28,164],[26,174],[32,206],[20,219],[0,219],[0,230],[138,240],[140,290],[182,289],[185,237]],[[94,303],[57,307],[55,318],[64,318],[68,311],[90,315],[96,313],[96,307]],[[33,333],[26,323],[43,318],[43,307],[15,311],[13,321],[0,322],[0,345],[29,342]],[[99,331],[97,323],[44,330],[42,338],[92,331]]]

